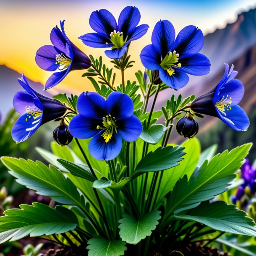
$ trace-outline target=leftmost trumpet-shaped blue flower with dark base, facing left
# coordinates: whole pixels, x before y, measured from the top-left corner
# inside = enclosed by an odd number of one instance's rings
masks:
[[[63,116],[67,109],[58,100],[34,91],[23,74],[18,82],[25,91],[17,91],[13,98],[13,106],[21,116],[14,123],[11,134],[14,141],[23,142],[37,131],[39,126]]]

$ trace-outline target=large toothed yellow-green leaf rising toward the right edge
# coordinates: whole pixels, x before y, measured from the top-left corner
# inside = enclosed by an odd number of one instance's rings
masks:
[[[185,175],[179,180],[167,199],[167,212],[177,214],[185,209],[198,206],[223,193],[235,178],[234,173],[243,164],[251,144],[244,144],[232,151],[217,154],[207,165],[196,168],[188,181]]]

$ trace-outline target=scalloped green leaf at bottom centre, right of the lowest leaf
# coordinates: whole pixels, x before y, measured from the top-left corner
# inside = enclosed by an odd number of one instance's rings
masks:
[[[126,243],[136,244],[140,240],[151,235],[161,219],[160,211],[148,212],[143,217],[135,219],[133,216],[125,214],[123,219],[119,220],[120,238]]]

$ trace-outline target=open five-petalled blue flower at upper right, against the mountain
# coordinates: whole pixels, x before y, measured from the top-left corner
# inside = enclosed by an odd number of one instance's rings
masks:
[[[141,62],[147,69],[158,70],[160,79],[169,87],[180,89],[188,84],[187,73],[194,76],[209,73],[208,58],[198,53],[204,45],[204,35],[195,26],[186,26],[175,39],[170,21],[158,21],[151,41],[141,51]]]

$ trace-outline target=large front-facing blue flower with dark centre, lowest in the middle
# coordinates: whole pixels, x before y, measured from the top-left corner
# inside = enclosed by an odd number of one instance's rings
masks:
[[[95,92],[83,92],[77,101],[78,115],[68,128],[75,138],[91,138],[90,154],[98,160],[111,160],[122,149],[122,139],[136,141],[141,135],[140,120],[133,115],[131,98],[113,91],[105,100]]]

